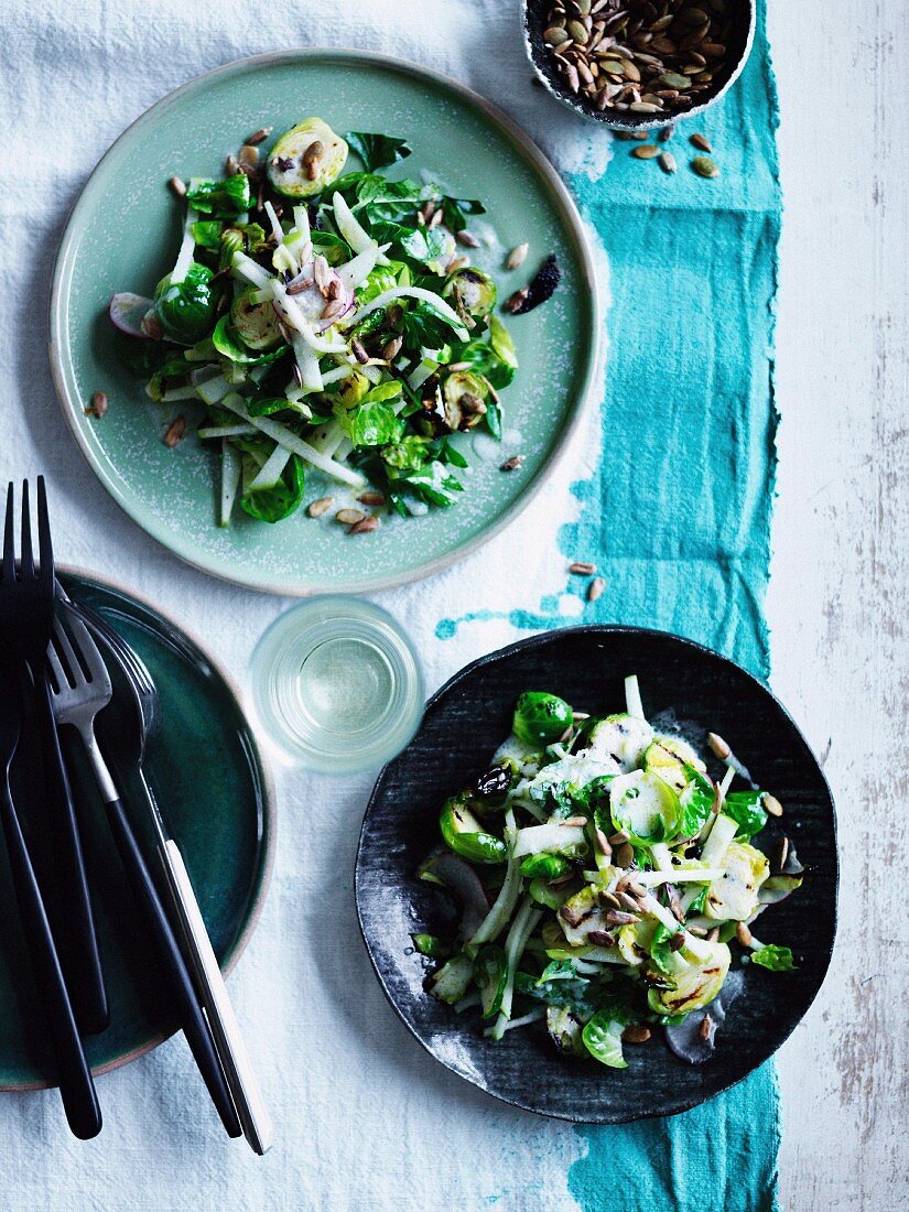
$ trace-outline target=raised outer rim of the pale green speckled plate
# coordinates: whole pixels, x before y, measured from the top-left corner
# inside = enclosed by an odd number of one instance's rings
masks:
[[[221,581],[227,581],[230,584],[245,585],[248,589],[257,589],[261,593],[284,594],[295,598],[308,598],[313,594],[325,593],[326,589],[324,585],[319,585],[318,583],[304,584],[296,578],[292,578],[291,581],[281,581],[274,584],[267,584],[264,582],[256,581],[255,577],[245,576],[241,568],[236,571],[231,570],[230,561],[227,559],[217,555],[208,555],[207,553],[199,550],[184,549],[179,536],[175,536],[173,531],[168,530],[164,522],[149,516],[143,510],[142,502],[136,501],[135,496],[131,496],[121,488],[120,481],[109,473],[105,462],[96,458],[88,446],[88,442],[84,438],[82,431],[76,424],[76,417],[81,412],[81,404],[78,391],[75,390],[75,375],[73,372],[72,360],[68,353],[69,345],[67,339],[65,313],[68,308],[70,279],[74,265],[74,245],[80,229],[82,211],[87,210],[90,205],[87,195],[91,190],[92,182],[98,173],[103,171],[108,158],[124,139],[130,137],[135,127],[152,121],[156,114],[179,102],[184,93],[196,88],[204,80],[212,80],[221,75],[240,74],[242,72],[248,72],[250,69],[255,70],[257,68],[265,68],[280,63],[318,62],[320,59],[343,58],[350,58],[360,63],[368,63],[373,67],[400,72],[405,75],[423,80],[424,82],[428,82],[438,88],[447,90],[462,101],[465,101],[479,109],[490,121],[498,126],[501,132],[527,160],[531,167],[533,167],[543,178],[543,182],[548,185],[551,193],[559,213],[566,223],[566,230],[571,236],[574,252],[581,262],[581,268],[584,275],[582,287],[587,290],[590,298],[591,328],[591,341],[589,353],[587,355],[584,379],[578,393],[578,398],[571,415],[561,429],[561,433],[558,435],[553,445],[550,457],[534,478],[527,484],[521,496],[511,505],[502,510],[502,513],[498,514],[498,516],[494,518],[481,533],[462,544],[458,544],[453,550],[446,553],[445,555],[439,556],[435,560],[430,560],[428,564],[416,570],[408,570],[394,576],[373,577],[361,581],[356,587],[345,589],[344,593],[378,593],[384,589],[394,589],[399,585],[411,584],[415,581],[422,581],[436,572],[441,572],[444,568],[451,567],[453,564],[457,564],[465,556],[470,555],[471,551],[478,550],[478,548],[482,547],[496,534],[499,534],[519,516],[519,514],[527,508],[542,488],[545,480],[560,464],[566,450],[568,448],[571,439],[581,424],[581,418],[590,402],[594,383],[601,365],[602,309],[596,288],[596,274],[594,269],[593,253],[590,252],[590,245],[588,242],[587,234],[584,233],[584,227],[574,199],[571,196],[567,187],[553,165],[541,152],[533,139],[531,139],[531,137],[518,125],[518,122],[509,118],[508,114],[498,108],[498,105],[486,101],[485,97],[474,92],[473,88],[468,88],[467,85],[453,80],[451,76],[447,76],[441,72],[434,72],[429,68],[419,67],[415,63],[410,63],[407,59],[401,59],[391,55],[378,55],[372,51],[360,51],[354,47],[345,46],[314,46],[297,47],[288,51],[269,51],[264,55],[252,55],[241,59],[231,59],[229,63],[223,63],[221,67],[213,68],[211,72],[204,72],[201,75],[193,76],[191,80],[179,85],[179,87],[156,101],[153,105],[144,110],[144,113],[139,114],[139,116],[136,118],[110,144],[108,150],[92,170],[88,179],[82,185],[79,198],[75,200],[73,208],[69,212],[69,217],[67,218],[63,239],[61,240],[57,259],[53,265],[50,297],[50,360],[53,382],[57,389],[57,398],[61,402],[61,411],[63,412],[65,422],[69,425],[69,430],[75,439],[82,457],[97,479],[120,505],[124,513],[127,514],[127,516],[130,516],[142,530],[144,530],[147,534],[160,543],[161,547],[166,548],[172,555],[183,560],[184,564],[188,564],[194,568],[199,568],[201,572],[207,572],[211,576],[218,577]]]

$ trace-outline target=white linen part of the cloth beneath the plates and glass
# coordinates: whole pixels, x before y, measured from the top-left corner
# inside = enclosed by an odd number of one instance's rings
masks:
[[[564,170],[599,176],[610,141],[530,86],[518,6],[501,0],[6,0],[0,35],[0,479],[44,473],[58,560],[158,602],[245,685],[255,641],[290,602],[207,578],[139,531],[82,463],[55,395],[50,278],[69,207],[98,158],[185,80],[303,45],[381,50],[448,73],[509,110]],[[595,412],[573,457],[509,533],[378,599],[417,639],[430,690],[518,635],[491,621],[440,641],[440,618],[532,606],[564,588],[555,536],[578,508],[570,482],[596,458]],[[567,599],[567,610],[578,606]],[[511,1111],[444,1070],[373,978],[351,887],[371,778],[276,773],[271,888],[230,979],[274,1111],[275,1148],[258,1159],[223,1136],[179,1036],[99,1079],[105,1126],[87,1144],[68,1134],[55,1092],[0,1097],[0,1202],[73,1212],[573,1207],[566,1174],[585,1149],[574,1130]]]

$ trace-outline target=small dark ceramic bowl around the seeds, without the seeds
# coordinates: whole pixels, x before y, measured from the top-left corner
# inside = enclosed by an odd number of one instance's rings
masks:
[[[704,0],[707,7],[709,0]],[[585,118],[588,121],[599,122],[613,131],[651,131],[669,122],[681,121],[686,118],[694,118],[703,114],[705,109],[725,96],[725,93],[738,80],[748,56],[754,45],[754,32],[756,22],[755,0],[727,0],[733,18],[733,28],[726,41],[728,56],[722,70],[718,74],[711,87],[701,93],[704,99],[690,109],[667,109],[658,114],[638,114],[630,110],[605,109],[598,110],[593,105],[584,104],[578,99],[578,95],[572,92],[565,75],[558,69],[556,62],[550,53],[550,47],[543,40],[543,30],[547,28],[553,0],[522,0],[522,27],[524,42],[527,48],[527,57],[533,64],[541,84],[564,105],[567,105],[574,114]],[[570,8],[571,5],[566,4]],[[606,16],[606,11],[601,16]],[[596,15],[594,15],[596,19]]]

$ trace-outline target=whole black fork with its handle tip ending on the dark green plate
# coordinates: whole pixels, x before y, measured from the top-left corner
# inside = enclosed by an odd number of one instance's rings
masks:
[[[53,545],[47,513],[44,476],[38,476],[38,568],[32,543],[29,482],[22,484],[22,542],[18,576],[16,573],[16,492],[6,491],[2,581],[0,582],[0,636],[24,664],[32,676],[38,710],[44,784],[47,794],[47,819],[53,841],[57,896],[55,905],[61,928],[59,949],[73,1008],[82,1031],[93,1035],[109,1022],[104,977],[98,954],[82,844],[67,767],[59,748],[47,684],[46,653],[53,628],[56,579]],[[57,920],[57,919],[55,919]]]

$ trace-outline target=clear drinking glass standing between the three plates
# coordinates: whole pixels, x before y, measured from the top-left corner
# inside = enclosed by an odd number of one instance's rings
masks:
[[[252,656],[259,722],[287,756],[322,774],[394,758],[423,715],[407,635],[361,598],[310,598],[269,627]]]

